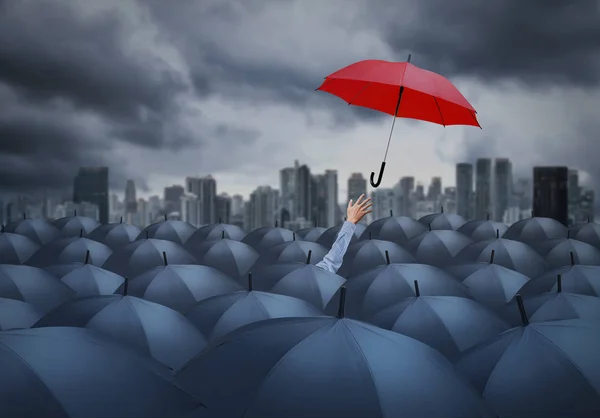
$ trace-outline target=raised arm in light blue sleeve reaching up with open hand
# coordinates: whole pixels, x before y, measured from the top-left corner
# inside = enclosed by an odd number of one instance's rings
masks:
[[[348,209],[346,213],[346,222],[342,224],[340,232],[338,232],[335,242],[331,246],[331,250],[327,255],[317,263],[317,267],[323,270],[336,273],[342,266],[344,261],[344,255],[348,250],[348,245],[352,240],[354,231],[356,230],[356,224],[367,214],[371,212],[371,199],[363,200],[365,195],[361,195],[356,203],[352,200],[348,203]]]

